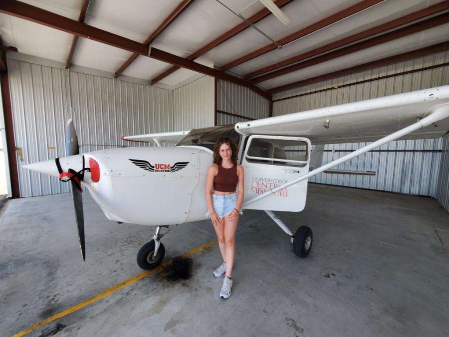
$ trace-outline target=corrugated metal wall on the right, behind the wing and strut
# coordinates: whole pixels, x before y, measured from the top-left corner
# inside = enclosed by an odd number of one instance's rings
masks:
[[[285,91],[275,94],[273,99],[276,100],[291,95],[332,88],[334,86],[397,74],[445,62],[449,62],[449,51]],[[279,116],[446,84],[449,84],[449,66],[393,76],[387,79],[274,102],[273,115]],[[357,150],[366,144],[328,145],[325,147],[325,150],[328,152],[324,153],[323,164],[347,154],[347,152],[340,151]],[[439,170],[442,168],[440,167],[442,158],[441,139],[397,141],[384,145],[380,149],[390,151],[370,152],[337,167],[338,169],[375,170],[377,172],[376,176],[320,173],[312,177],[310,181],[410,194],[437,195],[437,177]],[[331,152],[332,150],[336,152]],[[409,152],[403,152],[402,150],[408,150]],[[429,152],[416,152],[424,150]]]

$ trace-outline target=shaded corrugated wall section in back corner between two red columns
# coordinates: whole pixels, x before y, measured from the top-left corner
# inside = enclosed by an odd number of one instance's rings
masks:
[[[268,117],[269,102],[254,91],[223,80],[217,80],[217,110],[252,119]],[[247,121],[247,119],[217,114],[217,125]]]

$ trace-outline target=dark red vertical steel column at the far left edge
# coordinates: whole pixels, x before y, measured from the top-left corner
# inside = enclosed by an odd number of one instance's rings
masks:
[[[6,133],[6,148],[8,152],[9,176],[11,181],[11,194],[13,198],[19,198],[20,189],[18,182],[17,159],[15,157],[14,125],[12,122],[12,108],[7,71],[1,75],[1,99],[3,101],[3,116]]]

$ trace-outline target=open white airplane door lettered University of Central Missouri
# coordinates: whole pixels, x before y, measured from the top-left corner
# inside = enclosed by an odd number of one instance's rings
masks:
[[[250,136],[244,149],[245,201],[309,171],[310,141],[302,137]],[[245,209],[299,212],[307,180],[245,206]]]

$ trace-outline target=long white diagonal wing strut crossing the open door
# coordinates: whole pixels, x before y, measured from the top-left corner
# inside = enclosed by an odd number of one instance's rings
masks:
[[[258,196],[246,201],[241,206],[241,208],[245,208],[245,206],[247,206],[253,202],[256,202],[257,200],[263,199],[263,198],[267,197],[268,195],[271,195],[273,193],[276,193],[277,191],[280,191],[281,189],[284,189],[286,187],[294,185],[295,183],[298,183],[302,180],[308,179],[311,176],[314,176],[315,174],[321,173],[327,169],[331,169],[334,166],[337,166],[337,165],[347,162],[355,157],[363,155],[364,153],[371,151],[375,148],[378,148],[381,145],[384,145],[388,142],[397,140],[398,138],[404,137],[405,135],[407,135],[411,132],[417,131],[421,128],[425,128],[433,123],[441,121],[442,119],[448,118],[449,117],[449,103],[436,105],[436,106],[432,107],[431,109],[429,109],[424,115],[426,115],[428,113],[429,113],[429,116],[417,121],[416,123],[408,126],[407,128],[396,131],[395,133],[392,133],[391,135],[385,136],[385,137],[377,140],[376,142],[373,142],[373,143],[371,143],[367,146],[364,146],[363,148],[360,148],[359,150],[356,150],[346,156],[336,159],[333,162],[323,165],[317,169],[313,169],[313,170],[309,171],[307,174],[298,176],[297,178],[289,180],[286,183],[277,186],[276,188],[270,189],[270,190],[266,191],[265,193],[259,194]]]

